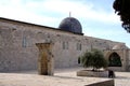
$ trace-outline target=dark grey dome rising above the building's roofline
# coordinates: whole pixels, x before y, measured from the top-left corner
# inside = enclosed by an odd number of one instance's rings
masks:
[[[82,28],[79,20],[74,17],[64,18],[58,28],[74,33],[82,33]]]

